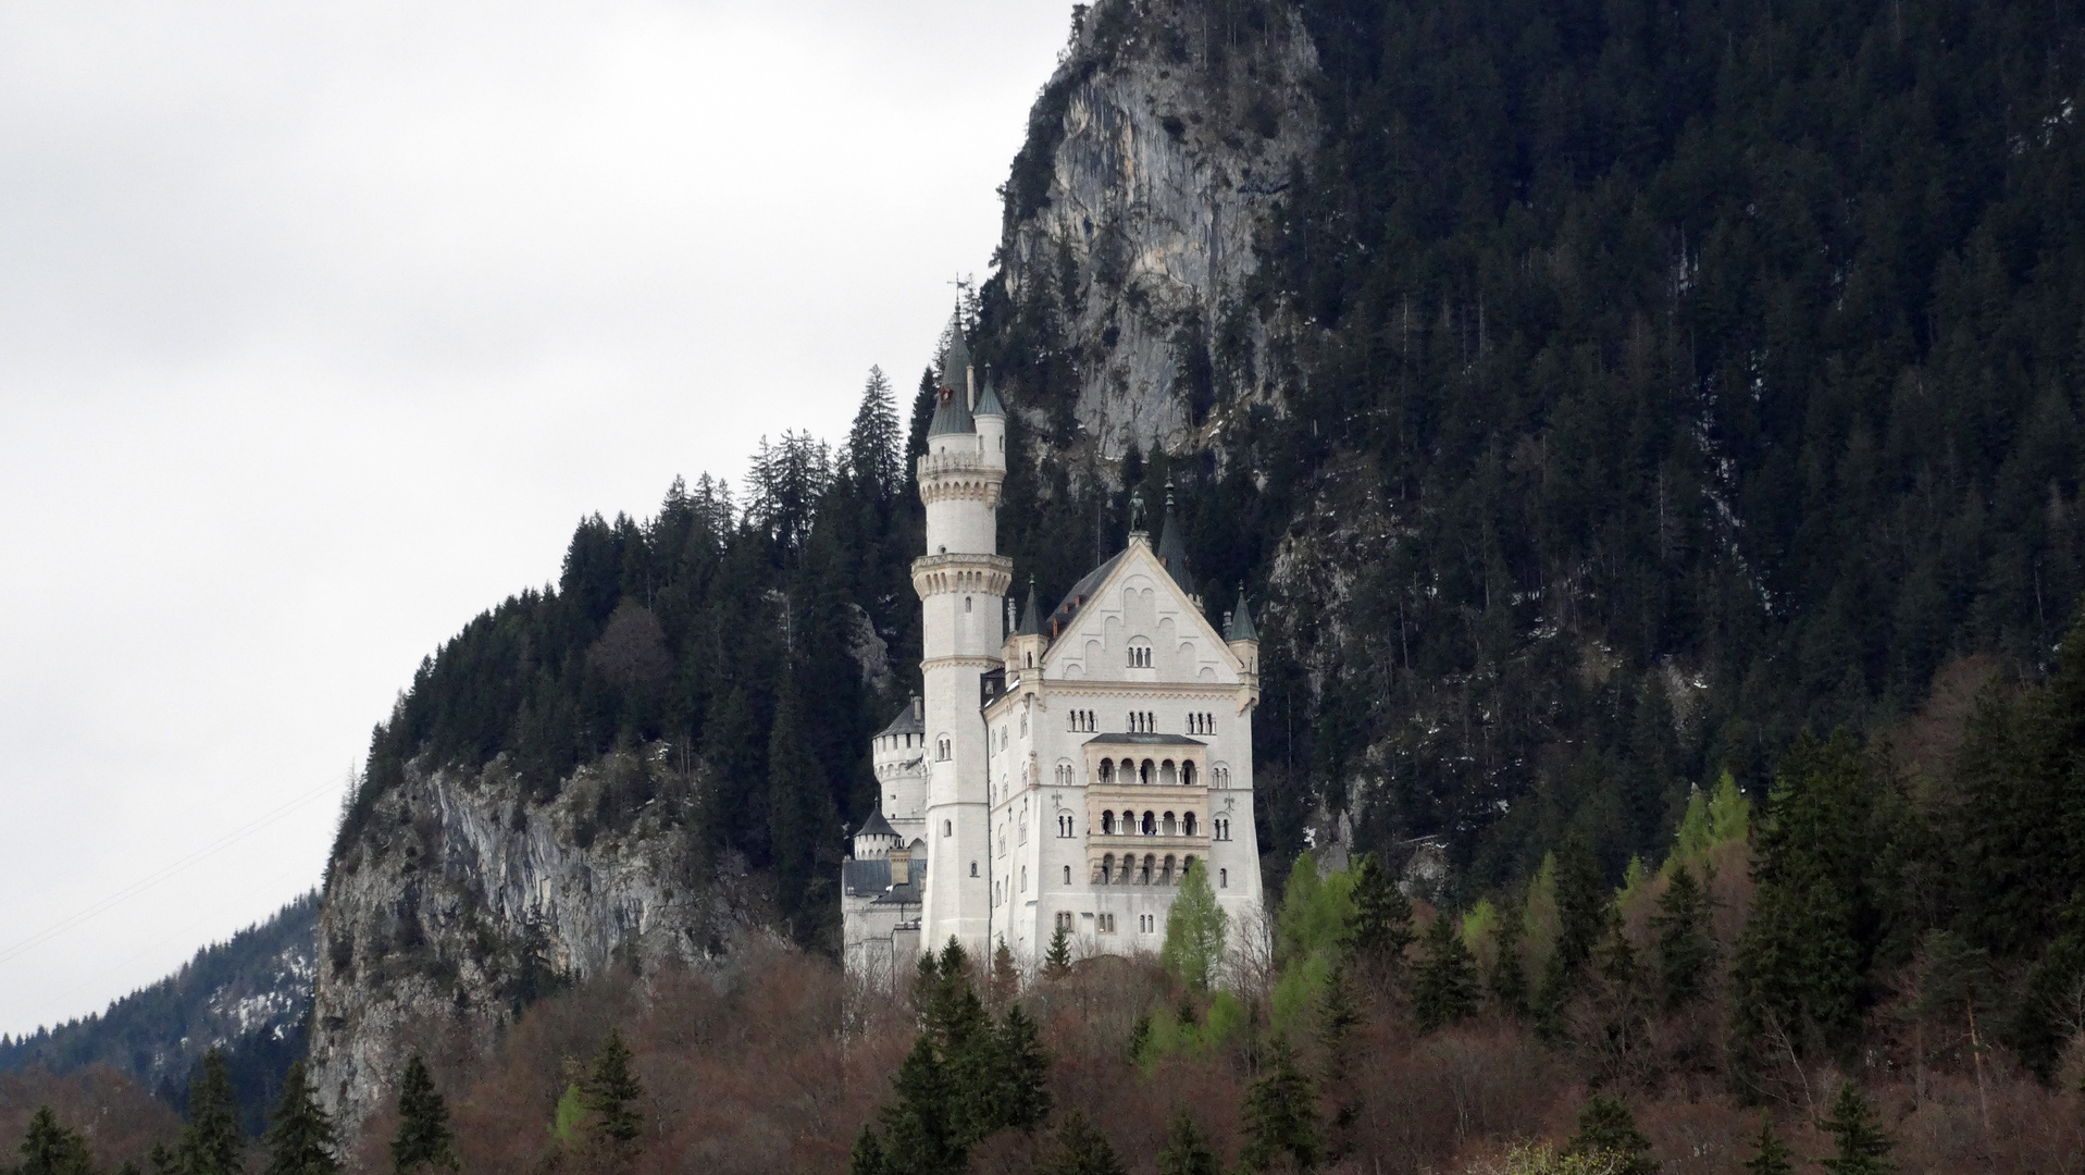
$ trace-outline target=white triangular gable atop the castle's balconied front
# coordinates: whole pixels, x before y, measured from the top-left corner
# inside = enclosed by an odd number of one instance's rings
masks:
[[[1238,660],[1140,536],[1080,589],[1055,618],[1063,628],[1042,657],[1049,676],[1238,685]]]

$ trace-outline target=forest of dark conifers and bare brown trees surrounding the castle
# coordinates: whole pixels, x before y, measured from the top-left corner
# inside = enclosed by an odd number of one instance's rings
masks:
[[[0,1169],[2085,1171],[2085,4],[1076,21],[1009,225],[1097,71],[1247,77],[1282,29],[1318,63],[1249,288],[1174,340],[1188,445],[1078,422],[1111,340],[1072,323],[1134,284],[995,269],[957,315],[1017,591],[1140,493],[1253,601],[1264,916],[1191,874],[1161,954],[842,975],[934,409],[872,369],[847,436],[582,520],[427,655],[329,864],[413,770],[550,799],[653,756],[580,835],[653,814],[761,929],[546,977],[490,1050],[427,1031],[357,1131],[300,1064],[4,1073]],[[1251,83],[1209,117],[1259,134]]]

